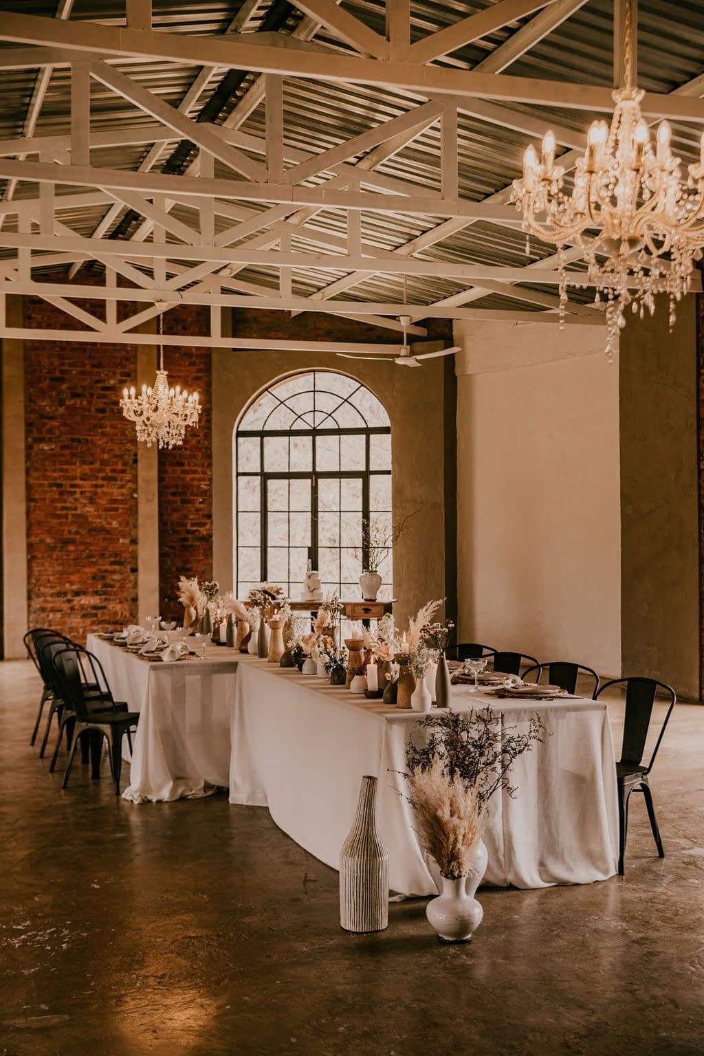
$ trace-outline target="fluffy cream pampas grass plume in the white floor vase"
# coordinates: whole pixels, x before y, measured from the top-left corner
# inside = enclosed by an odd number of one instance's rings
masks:
[[[438,756],[407,780],[422,846],[443,876],[467,876],[483,832],[478,790],[465,788],[458,775],[450,777]]]

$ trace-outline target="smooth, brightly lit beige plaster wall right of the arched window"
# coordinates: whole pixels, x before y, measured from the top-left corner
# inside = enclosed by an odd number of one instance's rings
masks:
[[[460,640],[621,671],[619,370],[601,327],[455,323]]]

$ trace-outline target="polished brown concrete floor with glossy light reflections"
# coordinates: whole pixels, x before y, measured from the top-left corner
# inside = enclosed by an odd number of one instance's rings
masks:
[[[0,664],[0,1056],[704,1053],[704,708],[679,705],[627,873],[483,890],[472,945],[424,900],[340,930],[337,873],[225,796],[135,807],[28,746],[39,682]],[[617,727],[620,704],[612,706]]]

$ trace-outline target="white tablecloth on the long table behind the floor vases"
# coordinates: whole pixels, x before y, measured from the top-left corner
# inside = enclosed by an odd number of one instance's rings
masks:
[[[475,703],[476,701],[476,703]],[[473,698],[453,692],[453,708],[502,713],[506,725],[545,723],[543,743],[511,771],[517,797],[491,800],[486,881],[516,887],[586,884],[616,871],[617,802],[606,704]],[[379,778],[377,822],[389,851],[392,889],[433,894],[436,885],[400,794],[413,712],[387,709],[298,672],[244,658],[232,716],[230,802],[267,806],[298,844],[332,868],[347,835],[363,774]]]

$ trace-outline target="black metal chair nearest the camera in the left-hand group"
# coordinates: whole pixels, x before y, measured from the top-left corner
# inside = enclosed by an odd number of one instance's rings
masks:
[[[122,737],[135,728],[139,721],[138,712],[126,711],[126,705],[115,702],[102,666],[97,657],[80,645],[71,645],[57,650],[52,657],[61,698],[72,708],[76,721],[69,753],[69,761],[63,774],[62,788],[69,784],[73,767],[76,746],[82,734],[93,732],[98,734],[92,739],[91,755],[93,758],[93,776],[99,776],[99,758],[102,737],[108,741],[108,757],[110,770],[115,782],[115,795],[119,795],[119,778],[122,769]],[[84,693],[84,673],[92,672],[91,681],[99,689],[98,695],[87,696]],[[131,743],[131,740],[130,740]],[[98,771],[96,773],[96,770]]]

